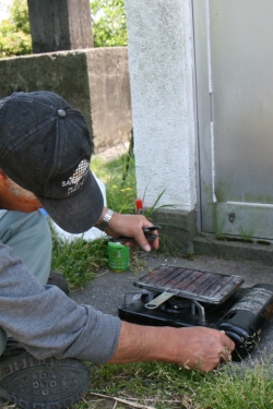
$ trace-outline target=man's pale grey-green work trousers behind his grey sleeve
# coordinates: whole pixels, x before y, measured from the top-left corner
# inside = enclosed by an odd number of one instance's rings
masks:
[[[0,240],[23,260],[41,284],[47,284],[51,265],[51,233],[46,217],[39,210],[0,210]],[[5,344],[7,334],[0,328],[0,354]]]

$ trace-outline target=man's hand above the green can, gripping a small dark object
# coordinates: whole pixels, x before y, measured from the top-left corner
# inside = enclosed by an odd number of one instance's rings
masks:
[[[134,238],[134,241],[122,240],[122,244],[128,246],[140,245],[145,251],[151,251],[151,249],[158,249],[159,239],[154,240],[146,239],[143,227],[150,227],[153,224],[142,215],[120,215],[115,213],[109,221],[108,227],[106,228],[107,234],[119,238],[120,236]],[[158,234],[157,230],[153,231],[153,234]]]

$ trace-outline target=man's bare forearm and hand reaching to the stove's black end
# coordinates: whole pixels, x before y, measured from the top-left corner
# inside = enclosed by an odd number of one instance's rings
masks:
[[[116,353],[108,363],[162,361],[209,372],[232,360],[234,341],[205,327],[151,327],[122,322]]]

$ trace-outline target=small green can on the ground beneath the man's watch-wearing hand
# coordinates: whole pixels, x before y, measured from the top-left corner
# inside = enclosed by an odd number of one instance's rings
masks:
[[[130,266],[130,249],[119,242],[108,242],[108,267],[115,273],[122,273]]]

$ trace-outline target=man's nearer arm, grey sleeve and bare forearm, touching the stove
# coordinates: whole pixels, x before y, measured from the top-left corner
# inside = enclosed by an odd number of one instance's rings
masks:
[[[38,359],[78,358],[94,363],[158,360],[210,371],[234,344],[203,327],[144,327],[78,305],[45,287],[11,249],[0,243],[0,326]]]

